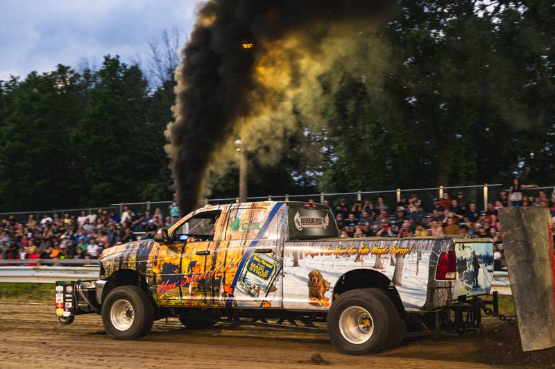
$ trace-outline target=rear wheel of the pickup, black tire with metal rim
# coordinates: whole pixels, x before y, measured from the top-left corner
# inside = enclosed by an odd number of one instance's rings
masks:
[[[345,354],[376,352],[386,344],[390,314],[375,289],[354,289],[339,295],[327,313],[327,333]]]

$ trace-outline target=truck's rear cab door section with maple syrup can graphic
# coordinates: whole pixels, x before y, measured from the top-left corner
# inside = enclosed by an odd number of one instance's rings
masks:
[[[278,248],[281,203],[232,205],[217,258],[225,272],[216,289],[226,307],[282,307],[282,255]]]

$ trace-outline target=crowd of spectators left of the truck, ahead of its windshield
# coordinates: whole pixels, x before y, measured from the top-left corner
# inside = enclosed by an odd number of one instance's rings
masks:
[[[167,214],[160,208],[133,212],[125,206],[121,214],[98,209],[78,216],[43,214],[40,220],[31,214],[26,221],[10,215],[0,220],[0,258],[97,259],[105,248],[151,239],[158,228],[172,225],[179,214],[175,202]]]

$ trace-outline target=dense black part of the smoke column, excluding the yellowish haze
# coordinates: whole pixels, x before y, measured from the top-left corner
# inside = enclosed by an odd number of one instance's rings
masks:
[[[391,2],[211,0],[200,8],[184,62],[176,71],[176,121],[168,130],[182,214],[198,204],[214,150],[233,134],[237,121],[248,116],[253,91],[264,94],[253,78],[253,65],[270,51],[268,45],[291,32],[300,33],[305,51],[316,54],[322,40],[333,37],[325,25],[355,19],[375,22],[386,3]],[[316,24],[320,26],[313,27]],[[293,69],[295,62],[292,55]]]

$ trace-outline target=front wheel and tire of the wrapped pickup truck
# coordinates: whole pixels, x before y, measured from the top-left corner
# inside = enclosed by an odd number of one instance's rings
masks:
[[[153,321],[153,303],[138,286],[117,287],[104,300],[102,323],[106,333],[114,339],[145,336],[151,331]]]

